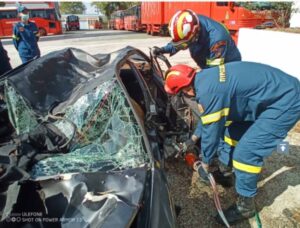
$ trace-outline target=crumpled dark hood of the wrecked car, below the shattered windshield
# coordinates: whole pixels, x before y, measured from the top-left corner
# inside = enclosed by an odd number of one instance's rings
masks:
[[[60,175],[21,186],[6,221],[15,216],[18,227],[129,227],[140,208],[147,169]],[[32,212],[37,213],[27,216]]]

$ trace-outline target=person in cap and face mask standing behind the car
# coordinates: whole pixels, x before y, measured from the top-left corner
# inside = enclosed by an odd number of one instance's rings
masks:
[[[25,6],[18,7],[21,21],[13,28],[13,43],[18,50],[22,63],[40,57],[38,47],[39,31],[34,22],[29,21],[29,11]]]

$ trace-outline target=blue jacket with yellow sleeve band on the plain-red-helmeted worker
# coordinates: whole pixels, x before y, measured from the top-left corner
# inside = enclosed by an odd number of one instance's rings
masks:
[[[300,103],[300,82],[279,69],[251,62],[231,62],[204,69],[194,81],[196,101],[201,104],[201,149],[210,163],[223,137],[226,121],[276,119]],[[202,127],[202,129],[201,129]],[[282,135],[267,123],[265,131]]]

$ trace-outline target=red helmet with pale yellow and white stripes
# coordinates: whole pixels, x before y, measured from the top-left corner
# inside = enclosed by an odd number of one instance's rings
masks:
[[[186,49],[200,29],[198,16],[192,10],[175,13],[169,23],[169,33],[175,47]]]

